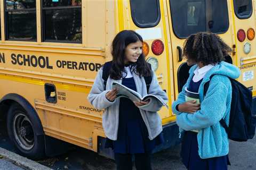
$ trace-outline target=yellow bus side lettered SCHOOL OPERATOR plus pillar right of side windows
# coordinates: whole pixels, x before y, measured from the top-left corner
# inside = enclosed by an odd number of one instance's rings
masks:
[[[111,60],[114,2],[86,2],[85,6],[88,8],[85,48],[0,45],[1,89],[4,89],[0,94],[3,97],[12,92],[26,98],[41,118],[45,134],[97,151],[97,135],[105,137],[101,123],[103,110],[93,108],[87,94],[102,64]],[[54,86],[57,103],[46,101],[45,84]]]

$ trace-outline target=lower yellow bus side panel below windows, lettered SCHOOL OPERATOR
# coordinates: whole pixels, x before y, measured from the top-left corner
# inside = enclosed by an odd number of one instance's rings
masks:
[[[43,58],[39,56],[47,56],[47,59],[44,57],[46,66],[40,68],[39,63],[37,67],[32,66],[36,59],[28,60],[28,56],[31,56],[29,50],[12,50],[11,53],[9,50],[2,50],[2,54],[4,54],[2,56],[5,57],[5,63],[2,62],[0,67],[2,80],[0,86],[4,89],[0,91],[1,96],[9,93],[21,95],[35,107],[45,134],[92,149],[93,131],[97,129],[103,131],[101,125],[103,110],[93,108],[86,97],[99,67],[105,62],[104,58],[78,54],[70,57],[70,54],[34,52],[37,62],[43,61],[38,59]],[[58,60],[58,56],[61,56],[61,60]],[[58,67],[58,61],[59,64],[67,63],[67,65]],[[13,64],[15,62],[17,64]],[[47,69],[47,63],[52,69]],[[79,70],[77,65],[76,70],[70,63],[82,63],[84,66]],[[96,67],[97,63],[101,63],[99,67]],[[42,64],[43,62],[41,66]],[[55,86],[57,103],[46,101],[45,84]]]

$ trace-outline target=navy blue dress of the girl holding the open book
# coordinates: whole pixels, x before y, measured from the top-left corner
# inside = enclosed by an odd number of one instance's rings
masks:
[[[123,78],[122,84],[137,91],[133,78]],[[155,146],[164,142],[163,134],[149,140],[148,130],[139,108],[128,98],[120,98],[117,140],[106,140],[105,148],[118,154],[150,153]]]

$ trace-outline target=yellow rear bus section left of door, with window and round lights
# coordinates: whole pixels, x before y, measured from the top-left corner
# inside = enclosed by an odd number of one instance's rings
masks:
[[[121,3],[121,1],[118,1]],[[147,4],[147,5],[145,5]],[[119,5],[121,6],[121,5]],[[140,0],[123,1],[123,8],[129,9],[131,13],[126,13],[124,19],[124,29],[135,30],[143,38],[143,53],[146,61],[151,64],[155,70],[158,83],[166,91],[169,98],[169,109],[163,107],[159,112],[162,123],[169,124],[175,120],[171,112],[171,103],[173,98],[173,74],[172,61],[167,56],[171,55],[169,31],[167,31],[167,18],[164,17],[166,5],[164,1],[158,0]]]

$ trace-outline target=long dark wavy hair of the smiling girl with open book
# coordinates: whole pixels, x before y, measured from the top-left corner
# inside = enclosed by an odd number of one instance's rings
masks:
[[[109,76],[111,79],[118,80],[123,77],[122,72],[124,70],[124,53],[125,48],[131,44],[141,41],[143,43],[142,37],[133,30],[123,30],[117,33],[116,37],[112,42],[111,54],[113,56],[112,66],[109,71]],[[145,60],[143,53],[139,56],[137,62],[130,63],[131,71],[135,71],[140,77],[145,77],[151,75],[151,69],[149,64]]]

